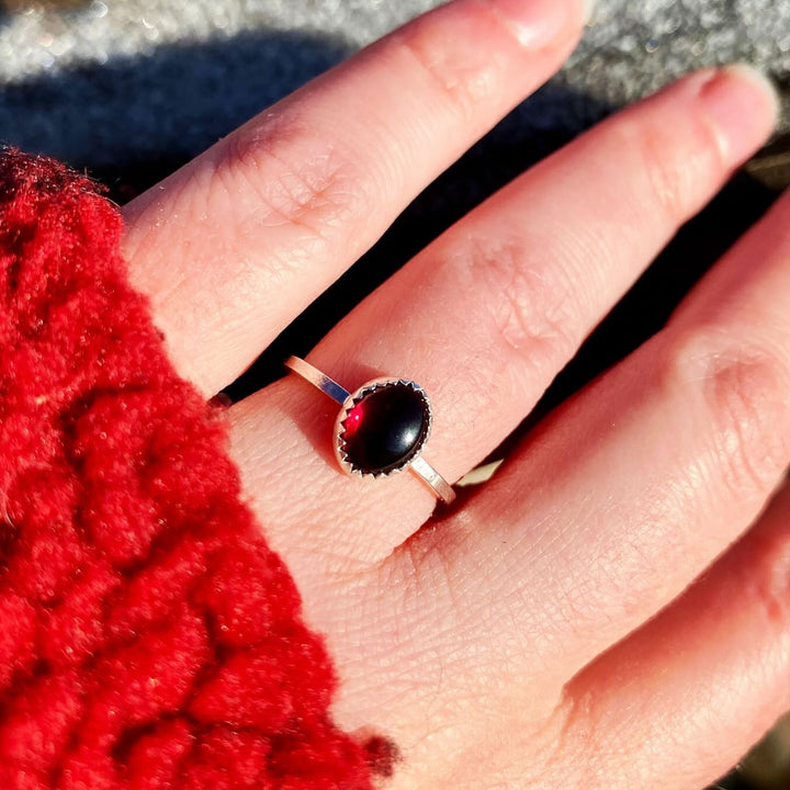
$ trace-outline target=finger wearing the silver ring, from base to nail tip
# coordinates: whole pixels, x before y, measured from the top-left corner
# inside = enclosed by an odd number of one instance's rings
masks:
[[[682,80],[461,221],[351,313],[311,361],[350,388],[382,374],[418,381],[435,406],[426,454],[459,477],[518,425],[677,226],[763,142],[774,115],[772,97],[742,69]],[[335,560],[375,562],[435,500],[410,475],[339,475],[329,449],[334,410],[294,376],[279,382],[232,409],[236,454],[272,539],[282,531],[282,551],[324,534],[311,518],[319,492],[331,524],[321,544]],[[272,470],[287,481],[285,503],[264,482]],[[302,560],[315,564],[307,553]]]

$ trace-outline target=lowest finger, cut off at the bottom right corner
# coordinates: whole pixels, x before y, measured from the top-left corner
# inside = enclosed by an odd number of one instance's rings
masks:
[[[576,781],[703,787],[790,708],[790,486],[655,620],[565,689]]]

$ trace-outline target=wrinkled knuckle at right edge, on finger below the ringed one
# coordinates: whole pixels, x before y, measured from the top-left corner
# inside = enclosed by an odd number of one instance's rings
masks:
[[[701,404],[725,485],[736,494],[776,485],[790,456],[790,376],[781,354],[718,328],[682,330],[665,353],[665,370],[691,387],[690,404]]]

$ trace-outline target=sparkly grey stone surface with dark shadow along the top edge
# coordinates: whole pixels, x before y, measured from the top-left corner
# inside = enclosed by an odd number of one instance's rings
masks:
[[[0,26],[0,138],[108,167],[192,156],[433,0],[93,0]],[[787,82],[787,0],[599,0],[521,139],[569,134],[691,68]],[[790,126],[788,117],[783,127]]]

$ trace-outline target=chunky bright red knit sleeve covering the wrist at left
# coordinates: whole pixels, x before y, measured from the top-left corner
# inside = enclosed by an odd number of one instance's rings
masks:
[[[121,218],[0,156],[0,788],[362,790],[321,640],[216,411],[127,285]]]

